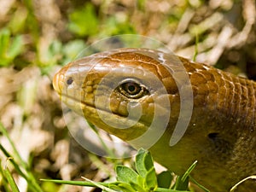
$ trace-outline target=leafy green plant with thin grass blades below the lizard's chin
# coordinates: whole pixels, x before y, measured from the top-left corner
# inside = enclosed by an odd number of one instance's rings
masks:
[[[136,156],[135,169],[121,165],[116,166],[117,181],[113,183],[96,183],[84,177],[85,181],[62,181],[53,179],[42,179],[42,181],[97,187],[108,192],[185,192],[189,191],[189,174],[195,168],[195,165],[196,161],[183,176],[177,177],[174,183],[174,177],[172,177],[171,172],[166,171],[156,174],[151,154],[144,149],[140,149]],[[201,187],[201,189],[204,188]],[[205,189],[205,191],[207,191],[207,189]]]

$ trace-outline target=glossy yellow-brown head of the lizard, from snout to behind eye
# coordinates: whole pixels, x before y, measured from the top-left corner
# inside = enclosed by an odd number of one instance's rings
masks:
[[[169,124],[171,103],[172,118],[180,110],[177,82],[170,75],[175,67],[171,71],[151,55],[148,49],[91,55],[63,67],[53,84],[62,102],[92,124],[133,143],[149,130],[151,145]],[[185,69],[176,65],[180,84],[186,85]],[[145,145],[137,147],[150,147]]]

